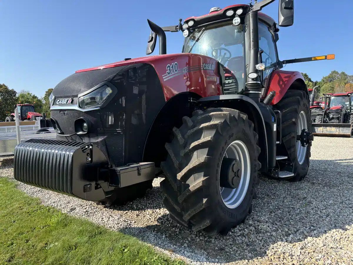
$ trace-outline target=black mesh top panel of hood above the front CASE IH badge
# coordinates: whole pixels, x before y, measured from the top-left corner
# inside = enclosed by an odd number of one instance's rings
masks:
[[[56,85],[53,90],[53,95],[56,98],[76,97],[78,94],[86,92],[87,90],[97,86],[97,84],[100,84],[103,81],[112,80],[114,76],[124,68],[126,68],[126,65],[74,73]]]

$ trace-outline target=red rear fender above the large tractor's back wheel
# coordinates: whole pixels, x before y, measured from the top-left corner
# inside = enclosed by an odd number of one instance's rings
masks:
[[[276,95],[273,98],[271,105],[276,105],[287,93],[288,89],[302,90],[309,95],[304,77],[300,72],[276,69],[272,72],[268,89],[267,91],[264,91],[262,96],[265,98],[271,91],[275,91]]]

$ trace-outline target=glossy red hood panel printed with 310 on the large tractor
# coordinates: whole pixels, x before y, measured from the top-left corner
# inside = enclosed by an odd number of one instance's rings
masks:
[[[78,70],[76,73],[131,64],[150,64],[154,67],[166,100],[182,92],[193,92],[202,97],[222,94],[218,61],[199,54],[177,53],[141,57]]]

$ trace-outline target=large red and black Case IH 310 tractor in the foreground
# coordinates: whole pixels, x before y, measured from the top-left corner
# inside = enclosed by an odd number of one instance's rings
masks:
[[[161,28],[148,20],[160,55],[76,71],[50,95],[57,140],[29,140],[14,154],[14,177],[90,201],[122,204],[165,177],[164,205],[177,224],[226,234],[244,222],[258,173],[301,181],[313,140],[309,93],[279,59],[279,24],[261,13],[275,0],[212,8]],[[183,52],[166,54],[165,31]],[[30,166],[28,166],[30,165]],[[44,166],[45,165],[45,166]]]

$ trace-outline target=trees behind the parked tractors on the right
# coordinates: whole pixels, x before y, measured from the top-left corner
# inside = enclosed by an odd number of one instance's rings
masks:
[[[332,71],[321,81],[312,81],[307,73],[301,74],[308,89],[320,86],[316,92],[316,99],[327,93],[353,92],[353,75],[348,75],[345,72]]]

